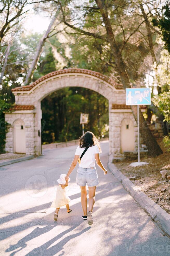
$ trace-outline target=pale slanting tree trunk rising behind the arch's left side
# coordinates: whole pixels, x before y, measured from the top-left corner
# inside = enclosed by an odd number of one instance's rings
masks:
[[[29,68],[29,71],[28,71],[28,74],[27,74],[27,77],[25,79],[25,83],[24,85],[27,85],[29,84],[30,80],[31,80],[31,76],[34,72],[34,70],[36,69],[36,66],[37,66],[37,61],[38,59],[40,58],[40,55],[41,55],[41,51],[42,51],[42,48],[43,48],[43,45],[45,43],[45,40],[48,38],[48,35],[50,33],[50,30],[51,30],[51,27],[53,26],[55,20],[56,20],[56,16],[57,16],[57,13],[54,15],[53,19],[51,20],[48,28],[47,28],[47,31],[44,33],[43,37],[41,38],[39,44],[38,44],[38,47],[37,47],[37,50],[36,50],[36,53],[34,55],[34,60],[32,61],[31,63],[31,66]]]

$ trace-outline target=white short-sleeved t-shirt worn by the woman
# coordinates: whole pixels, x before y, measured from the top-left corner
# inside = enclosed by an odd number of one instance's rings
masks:
[[[85,148],[80,148],[80,146],[77,147],[75,155],[81,156]],[[95,154],[99,154],[99,148],[97,145],[94,145],[92,147],[89,147],[85,154],[82,156],[81,162],[79,164],[80,167],[83,168],[89,168],[89,167],[95,167]]]

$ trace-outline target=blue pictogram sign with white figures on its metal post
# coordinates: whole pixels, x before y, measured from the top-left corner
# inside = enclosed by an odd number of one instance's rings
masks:
[[[138,162],[140,162],[139,105],[151,105],[150,88],[126,88],[126,105],[138,106]]]

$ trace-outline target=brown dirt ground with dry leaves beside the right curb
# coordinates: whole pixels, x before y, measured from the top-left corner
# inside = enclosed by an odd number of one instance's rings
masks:
[[[129,166],[130,163],[135,162],[134,160],[118,162],[115,165],[128,178],[139,175],[140,177],[132,182],[170,214],[170,181],[161,178],[160,173],[163,169],[170,170],[170,153],[163,146],[161,138],[158,139],[158,143],[164,153],[156,158],[142,158],[141,161],[148,162],[148,165]],[[166,191],[161,192],[164,188]]]

